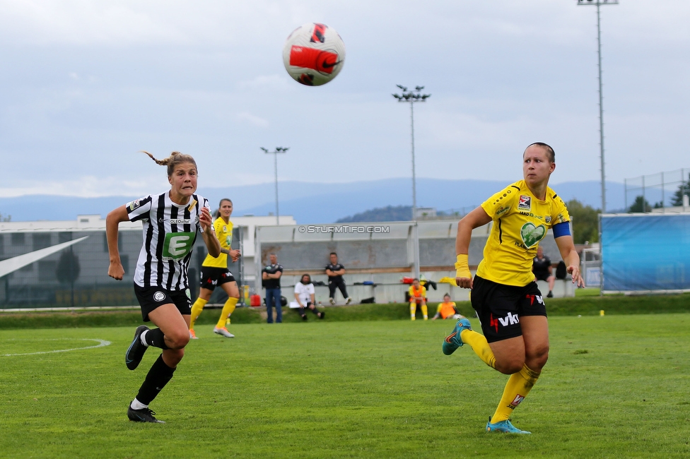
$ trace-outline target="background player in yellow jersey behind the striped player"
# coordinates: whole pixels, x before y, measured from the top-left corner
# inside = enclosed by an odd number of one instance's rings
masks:
[[[218,242],[221,243],[221,254],[218,257],[207,255],[204,263],[201,263],[201,288],[199,289],[199,298],[192,306],[192,322],[189,323],[189,337],[194,340],[197,339],[197,334],[194,333],[194,322],[199,318],[199,314],[209,302],[211,294],[218,285],[228,294],[228,300],[223,305],[221,318],[218,318],[214,333],[226,338],[235,338],[235,335],[226,328],[226,321],[230,318],[230,314],[235,311],[235,306],[240,299],[240,289],[235,281],[235,276],[228,270],[228,255],[232,261],[238,261],[240,258],[240,251],[233,250],[231,247],[233,244],[233,222],[230,222],[230,215],[232,213],[233,201],[221,199],[221,203],[218,204],[218,212],[216,212],[216,220],[214,220],[216,236]]]

